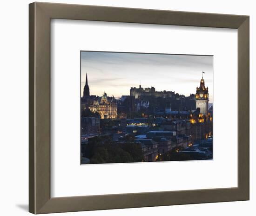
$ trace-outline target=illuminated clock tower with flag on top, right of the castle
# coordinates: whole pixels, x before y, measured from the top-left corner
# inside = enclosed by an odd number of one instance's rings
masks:
[[[195,107],[200,108],[200,113],[207,115],[208,114],[208,102],[209,102],[209,94],[208,87],[205,88],[203,76],[200,82],[200,87],[196,87],[195,93]]]

